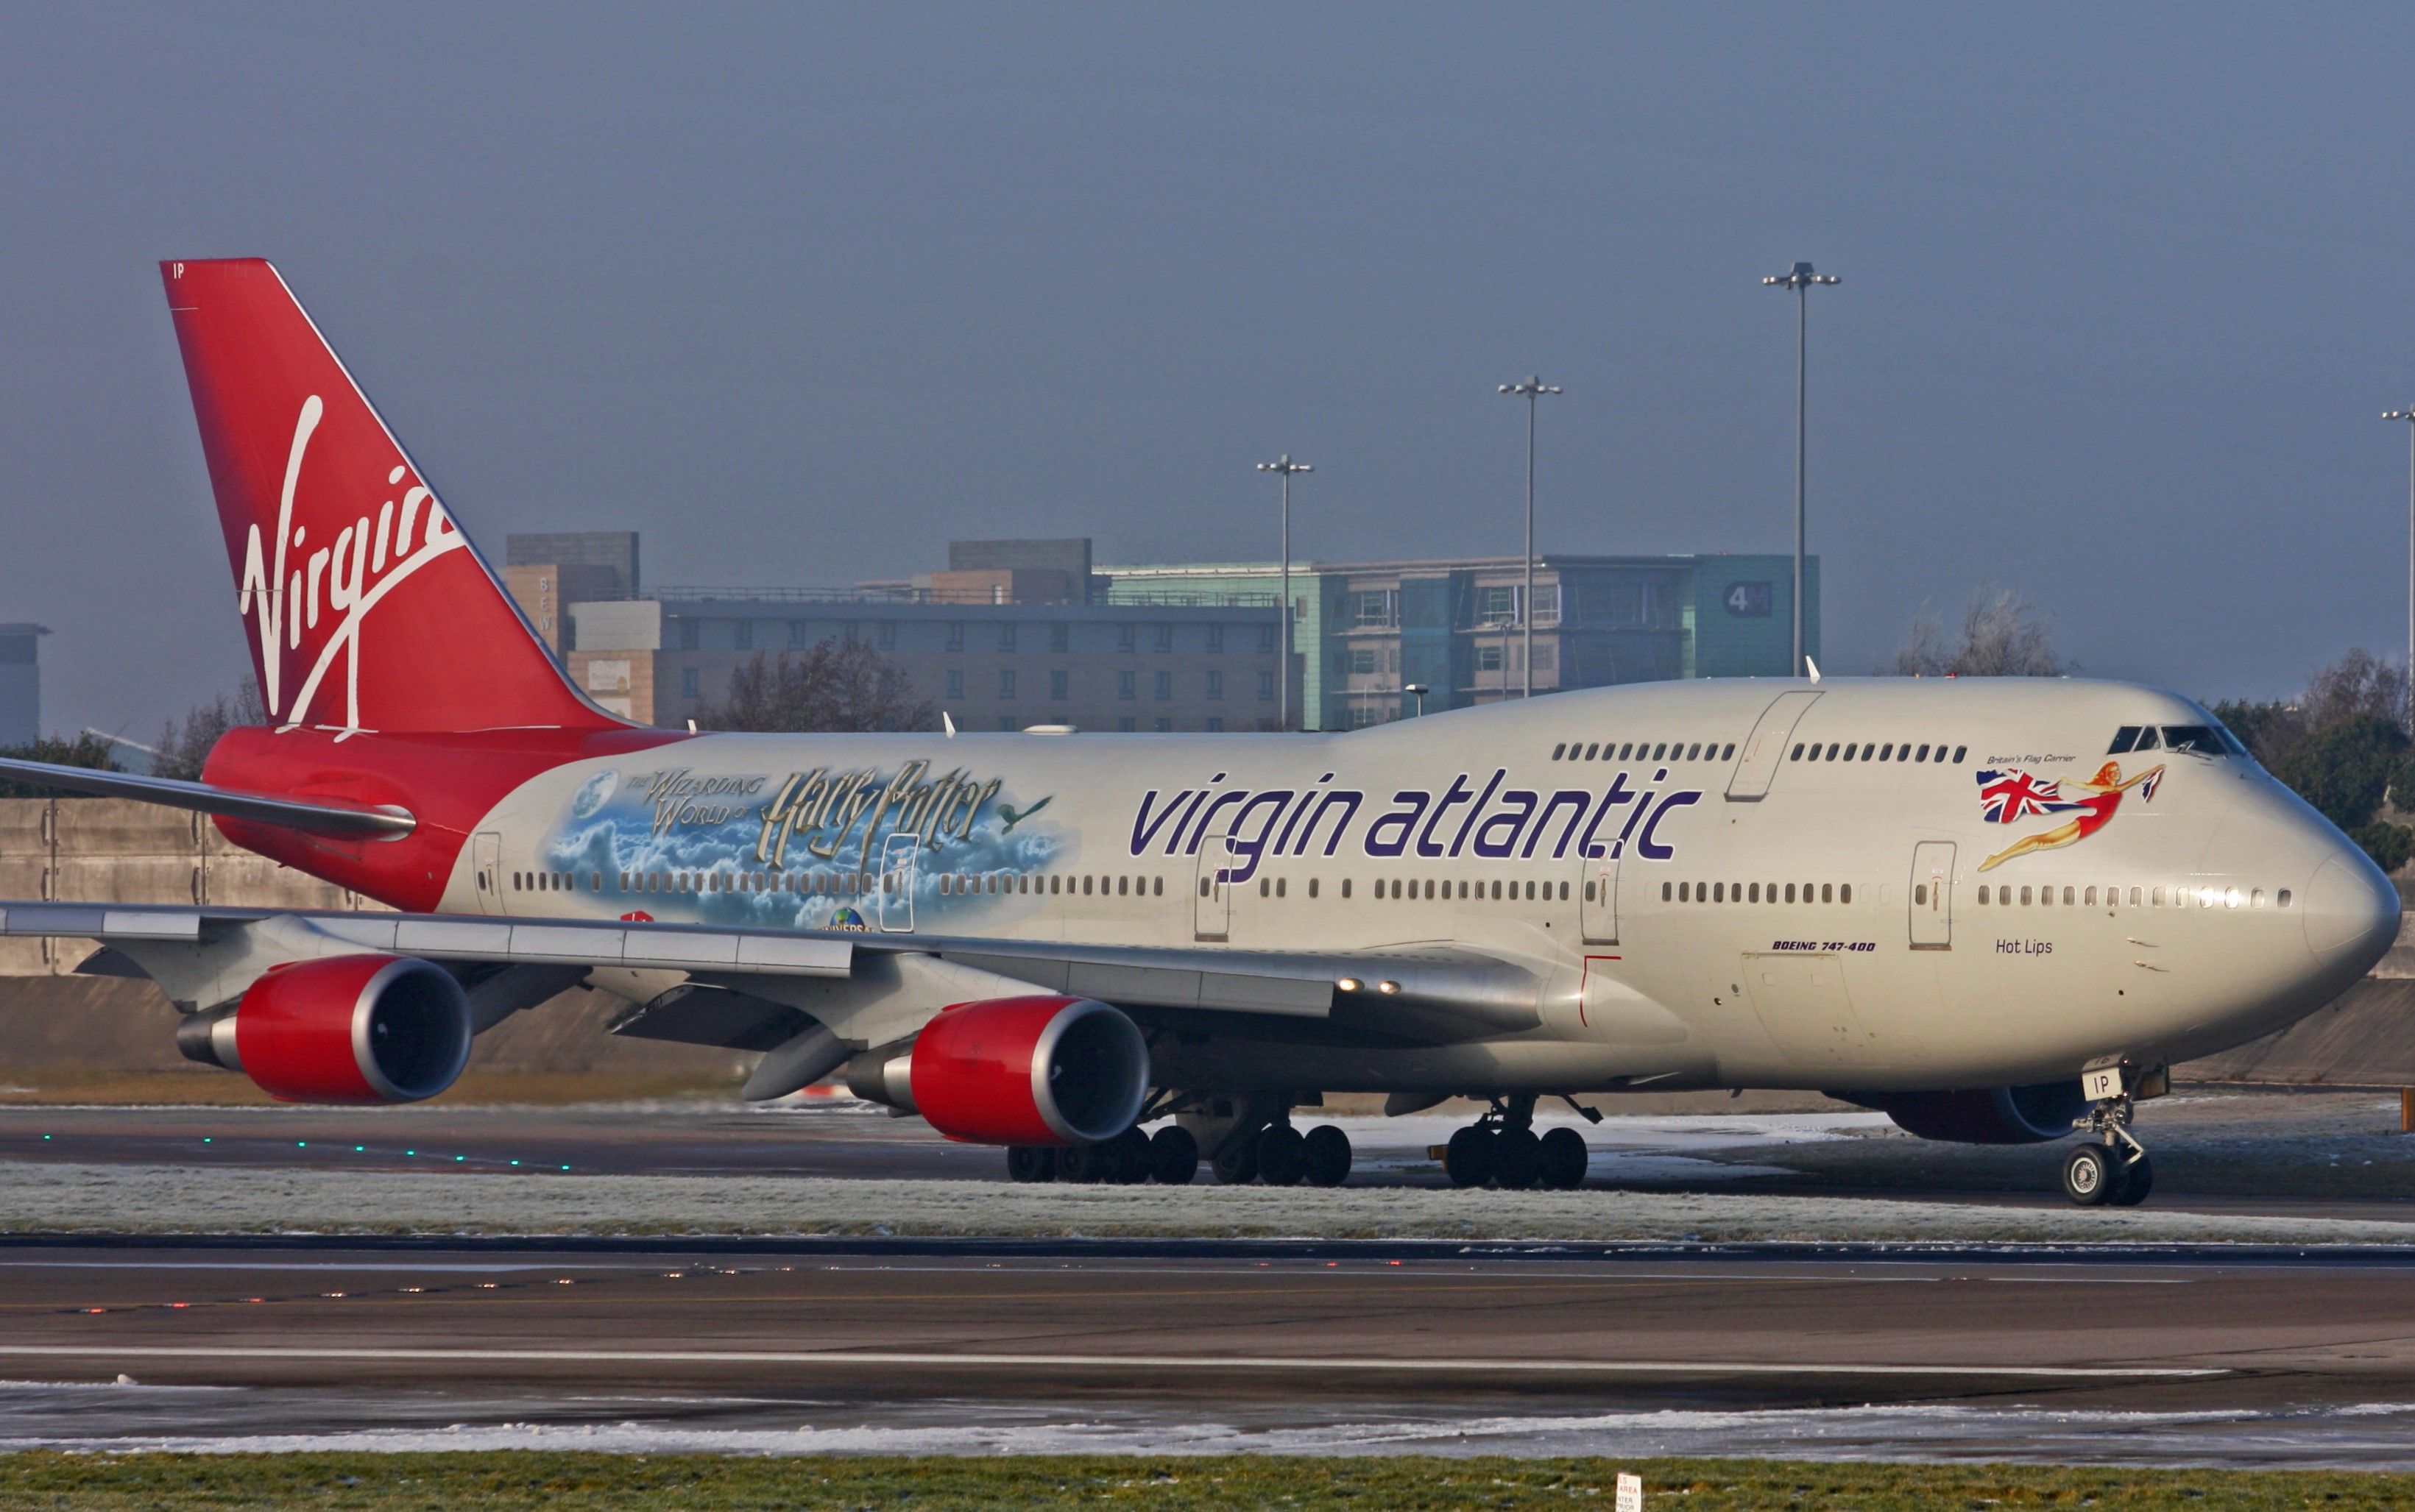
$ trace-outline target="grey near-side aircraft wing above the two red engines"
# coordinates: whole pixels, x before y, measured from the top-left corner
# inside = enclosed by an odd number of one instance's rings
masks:
[[[1541,981],[1456,949],[1374,954],[1072,944],[968,935],[720,930],[623,920],[312,908],[0,903],[0,937],[106,947],[85,971],[147,976],[184,1007],[232,1002],[270,966],[355,952],[423,956],[473,981],[481,1029],[570,985],[638,1007],[618,1034],[773,1048],[809,1022],[867,1046],[947,1002],[1096,998],[1147,1024],[1323,1022],[1451,1043],[1534,1029]]]

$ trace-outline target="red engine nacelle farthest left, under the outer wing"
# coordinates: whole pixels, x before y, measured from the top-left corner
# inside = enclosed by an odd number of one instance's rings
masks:
[[[176,1048],[280,1101],[420,1101],[469,1065],[469,995],[418,956],[270,966],[232,1007],[188,1017]]]

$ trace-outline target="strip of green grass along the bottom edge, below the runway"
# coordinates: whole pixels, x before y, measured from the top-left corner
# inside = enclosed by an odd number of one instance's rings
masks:
[[[1758,1459],[1282,1459],[720,1454],[0,1454],[0,1507],[184,1512],[232,1507],[604,1512],[770,1507],[1611,1507],[1618,1471],[1645,1505],[1686,1512],[1949,1512],[2091,1507],[2229,1512],[2415,1502],[2415,1476],[2058,1466],[1790,1464]]]

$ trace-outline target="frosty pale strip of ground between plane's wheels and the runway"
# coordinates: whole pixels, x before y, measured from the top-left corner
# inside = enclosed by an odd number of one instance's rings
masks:
[[[1884,1198],[0,1162],[5,1232],[2415,1244],[2415,1222]]]

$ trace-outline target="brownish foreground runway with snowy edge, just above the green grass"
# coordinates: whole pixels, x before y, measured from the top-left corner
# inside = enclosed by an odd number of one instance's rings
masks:
[[[2415,1466],[2405,1256],[1292,1251],[7,1244],[0,1447]]]

